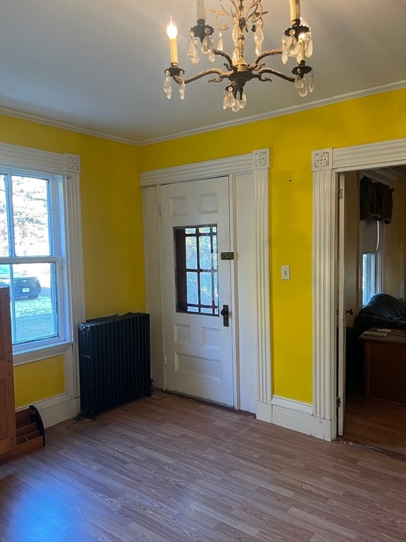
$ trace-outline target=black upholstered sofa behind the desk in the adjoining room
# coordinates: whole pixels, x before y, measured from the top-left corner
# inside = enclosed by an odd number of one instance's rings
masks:
[[[375,294],[359,311],[354,327],[360,332],[370,327],[406,330],[406,303],[389,294]]]

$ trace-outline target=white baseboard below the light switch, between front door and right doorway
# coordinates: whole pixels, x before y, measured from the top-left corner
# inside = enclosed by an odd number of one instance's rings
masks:
[[[298,433],[333,440],[331,421],[313,416],[312,404],[273,396],[271,404],[257,401],[257,419]]]

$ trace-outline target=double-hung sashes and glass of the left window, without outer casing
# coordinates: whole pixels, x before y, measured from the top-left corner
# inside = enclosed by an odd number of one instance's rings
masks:
[[[66,339],[62,181],[1,168],[0,282],[10,287],[13,351]]]

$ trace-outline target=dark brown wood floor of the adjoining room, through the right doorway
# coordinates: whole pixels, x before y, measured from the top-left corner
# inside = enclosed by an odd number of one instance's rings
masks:
[[[352,392],[345,401],[343,440],[406,459],[406,406],[364,399]]]

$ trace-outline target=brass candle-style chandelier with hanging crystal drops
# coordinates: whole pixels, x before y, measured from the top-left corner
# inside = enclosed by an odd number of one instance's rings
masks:
[[[189,41],[187,43],[187,56],[190,56],[192,64],[199,62],[199,42],[200,51],[209,58],[212,63],[216,56],[221,56],[225,59],[223,71],[220,68],[209,68],[207,70],[196,73],[194,76],[184,78],[185,70],[179,67],[178,64],[178,45],[176,37],[178,29],[171,17],[166,32],[169,37],[169,46],[171,51],[171,66],[165,70],[164,91],[168,100],[172,95],[172,80],[178,83],[181,100],[185,97],[185,85],[192,83],[197,79],[205,76],[215,75],[216,77],[209,79],[209,82],[221,83],[227,80],[226,89],[223,92],[223,109],[230,109],[233,112],[238,112],[245,107],[247,103],[247,95],[245,94],[245,83],[251,79],[259,81],[271,81],[271,78],[266,77],[270,73],[273,76],[282,78],[291,83],[295,83],[300,96],[304,97],[307,92],[314,90],[314,75],[310,66],[306,66],[305,59],[312,56],[313,43],[312,32],[307,25],[305,18],[300,14],[300,0],[289,0],[290,3],[290,20],[292,25],[285,30],[282,37],[281,49],[271,49],[262,51],[262,43],[264,42],[262,20],[263,16],[268,13],[264,11],[262,0],[251,0],[250,6],[245,9],[244,0],[230,0],[229,11],[224,8],[223,1],[220,0],[221,10],[208,9],[214,13],[214,26],[219,30],[219,44],[214,47],[213,35],[214,28],[206,23],[206,7],[204,0],[196,1],[197,8],[197,23],[190,28]],[[228,23],[221,23],[223,17],[228,17],[232,21],[231,37],[234,43],[233,54],[223,51],[222,32],[228,30]],[[249,64],[244,57],[245,34],[250,32],[254,34],[255,54],[257,58],[252,64]],[[292,76],[285,75],[280,71],[269,68],[265,65],[264,59],[267,56],[281,55],[283,64],[288,62],[289,57],[294,57],[297,61],[297,66],[293,68]],[[308,88],[305,78],[309,76]]]

